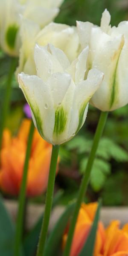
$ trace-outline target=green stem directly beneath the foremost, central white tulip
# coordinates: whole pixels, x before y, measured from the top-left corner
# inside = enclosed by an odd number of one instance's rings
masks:
[[[49,180],[48,180],[48,186],[47,186],[44,219],[41,227],[37,256],[44,255],[45,241],[47,238],[47,231],[48,231],[50,213],[52,208],[52,198],[53,198],[53,191],[54,191],[58,152],[59,152],[59,146],[58,145],[52,146],[52,157],[51,157],[51,164],[49,169]]]

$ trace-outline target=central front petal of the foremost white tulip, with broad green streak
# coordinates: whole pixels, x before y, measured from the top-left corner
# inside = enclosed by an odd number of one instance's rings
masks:
[[[55,126],[53,142],[64,143],[67,140],[75,84],[67,73],[55,73],[48,79],[55,106]]]

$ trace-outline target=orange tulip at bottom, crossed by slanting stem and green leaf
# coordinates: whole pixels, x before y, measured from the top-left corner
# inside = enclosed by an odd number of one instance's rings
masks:
[[[70,256],[78,256],[82,247],[84,246],[84,243],[87,239],[87,236],[93,224],[96,208],[97,208],[97,203],[81,205],[81,209],[79,210],[79,215],[76,222],[76,228],[73,236]],[[67,236],[68,236],[68,230],[66,230],[66,233],[63,236],[63,248],[66,244]],[[105,229],[103,227],[102,222],[99,221],[98,230],[96,234],[96,246],[95,246],[94,256],[99,255],[100,251],[103,250],[104,241],[105,241]]]

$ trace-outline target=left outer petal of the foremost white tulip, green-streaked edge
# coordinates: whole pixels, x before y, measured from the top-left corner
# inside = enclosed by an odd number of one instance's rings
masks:
[[[21,73],[18,76],[19,86],[32,110],[32,117],[36,121],[41,137],[52,141],[52,133],[55,122],[55,111],[49,87],[37,76],[28,76]]]

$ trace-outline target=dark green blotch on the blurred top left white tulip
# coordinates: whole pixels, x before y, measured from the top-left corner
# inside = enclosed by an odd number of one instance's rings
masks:
[[[6,32],[6,42],[11,49],[15,48],[15,40],[19,27],[17,24],[9,26]]]

